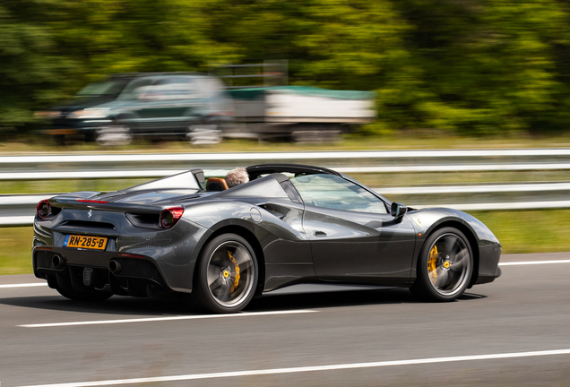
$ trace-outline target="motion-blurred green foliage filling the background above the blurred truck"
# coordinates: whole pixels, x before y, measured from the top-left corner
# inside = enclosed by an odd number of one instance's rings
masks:
[[[108,73],[288,60],[289,83],[376,90],[370,133],[570,125],[562,0],[0,0],[0,128]],[[1,130],[1,129],[0,129]]]

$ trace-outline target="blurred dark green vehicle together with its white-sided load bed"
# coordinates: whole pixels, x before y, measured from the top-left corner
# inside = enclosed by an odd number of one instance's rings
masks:
[[[242,75],[231,76],[242,80]],[[44,133],[58,142],[80,138],[101,145],[127,145],[134,137],[175,137],[192,144],[222,138],[332,142],[376,117],[372,91],[244,88],[224,84],[223,78],[205,73],[113,74],[37,115],[51,121]]]

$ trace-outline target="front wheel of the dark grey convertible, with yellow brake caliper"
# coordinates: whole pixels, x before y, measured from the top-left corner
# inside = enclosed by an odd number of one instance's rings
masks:
[[[418,258],[418,278],[410,290],[426,301],[453,301],[469,286],[471,245],[457,228],[440,228],[427,237]]]

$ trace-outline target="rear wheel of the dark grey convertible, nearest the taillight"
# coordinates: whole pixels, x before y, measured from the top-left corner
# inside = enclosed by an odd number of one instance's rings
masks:
[[[254,297],[258,272],[254,249],[246,239],[216,236],[198,259],[192,298],[213,313],[239,312]]]

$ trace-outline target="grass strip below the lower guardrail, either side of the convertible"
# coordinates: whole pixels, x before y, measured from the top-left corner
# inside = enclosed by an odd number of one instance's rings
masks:
[[[570,210],[472,211],[503,245],[503,254],[570,251]],[[0,228],[0,274],[31,273],[31,227]]]

